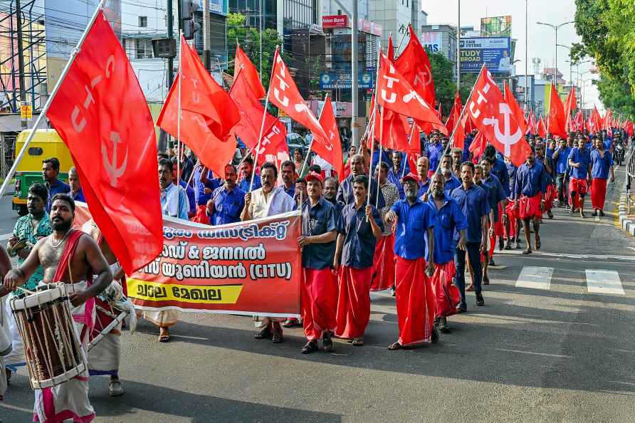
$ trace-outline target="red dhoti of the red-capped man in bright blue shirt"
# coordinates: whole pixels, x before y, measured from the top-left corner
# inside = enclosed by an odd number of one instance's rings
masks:
[[[426,258],[407,260],[396,256],[394,270],[399,343],[429,343],[434,324],[434,298],[426,276]]]

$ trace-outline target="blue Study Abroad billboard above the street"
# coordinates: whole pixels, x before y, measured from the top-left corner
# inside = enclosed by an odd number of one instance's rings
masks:
[[[510,73],[509,37],[461,38],[461,72],[478,73],[483,63],[492,73]]]

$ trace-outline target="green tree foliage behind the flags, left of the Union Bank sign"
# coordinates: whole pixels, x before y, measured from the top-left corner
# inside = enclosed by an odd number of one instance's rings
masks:
[[[258,28],[246,26],[246,17],[243,14],[229,14],[227,16],[227,53],[229,58],[228,72],[233,75],[233,59],[236,56],[236,43],[241,48],[251,62],[256,66],[260,66],[260,35]],[[271,66],[275,47],[282,45],[282,38],[278,35],[278,31],[274,29],[266,29],[263,31],[263,72],[261,80],[265,88],[269,85],[271,75]],[[285,55],[283,55],[285,58]]]

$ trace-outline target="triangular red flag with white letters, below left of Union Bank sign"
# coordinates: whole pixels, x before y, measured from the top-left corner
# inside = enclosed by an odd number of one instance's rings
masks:
[[[273,95],[272,95],[273,90]],[[277,108],[284,110],[291,119],[304,125],[313,133],[313,139],[321,138],[327,143],[326,136],[320,121],[313,115],[313,112],[305,103],[295,81],[291,77],[289,69],[283,62],[278,49],[273,55],[273,69],[271,70],[271,83],[269,84],[269,101]]]

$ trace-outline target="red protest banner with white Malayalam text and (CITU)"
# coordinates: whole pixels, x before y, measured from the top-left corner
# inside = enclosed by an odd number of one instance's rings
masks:
[[[77,203],[75,227],[89,219]],[[300,230],[299,211],[219,226],[164,216],[163,250],[127,296],[143,310],[299,317]]]

